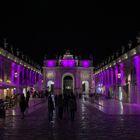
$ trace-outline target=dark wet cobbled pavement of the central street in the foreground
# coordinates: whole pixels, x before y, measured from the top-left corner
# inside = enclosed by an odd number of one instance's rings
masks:
[[[96,104],[97,105],[97,104]],[[78,100],[75,121],[67,113],[48,121],[47,103],[26,115],[0,119],[0,140],[139,140],[140,115],[108,115]]]

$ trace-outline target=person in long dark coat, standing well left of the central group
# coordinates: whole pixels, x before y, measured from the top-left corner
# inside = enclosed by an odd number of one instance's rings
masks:
[[[22,119],[24,119],[24,112],[25,112],[25,109],[26,109],[26,101],[25,101],[24,94],[20,95],[19,106],[20,106],[20,111],[22,113]]]

